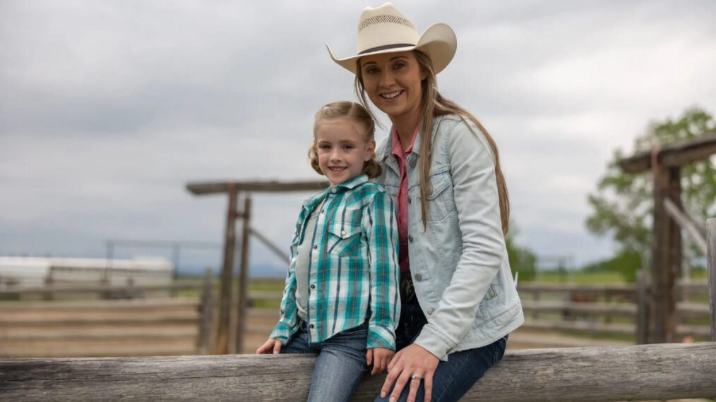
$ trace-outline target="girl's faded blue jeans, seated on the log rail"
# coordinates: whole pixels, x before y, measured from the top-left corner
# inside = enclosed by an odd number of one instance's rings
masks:
[[[281,353],[318,353],[311,378],[309,401],[348,401],[361,377],[368,371],[366,343],[368,322],[311,343],[306,323],[281,348]]]

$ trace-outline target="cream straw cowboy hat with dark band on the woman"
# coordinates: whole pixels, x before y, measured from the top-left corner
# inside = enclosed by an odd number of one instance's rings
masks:
[[[338,59],[326,44],[334,62],[355,74],[356,60],[369,54],[420,50],[432,60],[435,74],[448,67],[455,56],[458,39],[447,24],[433,24],[417,33],[415,24],[391,3],[372,9],[367,7],[358,22],[358,50],[355,56]]]

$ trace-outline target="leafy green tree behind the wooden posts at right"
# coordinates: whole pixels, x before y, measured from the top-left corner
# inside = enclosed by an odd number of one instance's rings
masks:
[[[611,235],[619,243],[615,260],[636,253],[640,257],[639,265],[644,266],[652,242],[652,175],[647,172],[627,175],[621,171],[619,160],[654,147],[695,139],[715,127],[714,117],[703,109],[687,109],[679,119],[649,124],[647,132],[634,140],[634,149],[629,155],[621,149],[614,151],[596,192],[588,197],[592,212],[586,219],[586,227],[596,235]],[[681,185],[682,202],[687,211],[702,221],[716,216],[716,169],[711,160],[682,167]]]

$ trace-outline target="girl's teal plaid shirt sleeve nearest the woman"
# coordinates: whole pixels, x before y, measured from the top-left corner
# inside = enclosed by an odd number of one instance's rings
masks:
[[[368,348],[395,350],[395,328],[400,317],[397,263],[398,231],[395,204],[385,192],[377,192],[363,214],[368,240],[370,310]]]

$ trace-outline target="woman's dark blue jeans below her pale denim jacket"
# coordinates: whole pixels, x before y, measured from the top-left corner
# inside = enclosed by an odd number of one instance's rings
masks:
[[[422,326],[426,323],[427,320],[422,314],[420,305],[402,305],[400,323],[396,331],[398,350],[415,341],[417,335],[420,335]],[[432,378],[432,401],[459,401],[485,375],[488,368],[500,361],[505,354],[506,346],[507,336],[482,348],[450,353],[449,361],[440,361],[437,364],[435,375]],[[406,385],[400,394],[399,401],[407,400],[408,391],[410,391],[410,386]],[[388,398],[390,398],[390,393],[386,398],[378,397],[375,401],[388,401]],[[425,387],[421,382],[415,400],[422,401],[423,398],[425,398]]]

